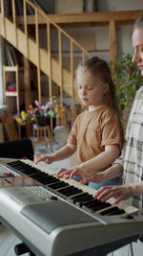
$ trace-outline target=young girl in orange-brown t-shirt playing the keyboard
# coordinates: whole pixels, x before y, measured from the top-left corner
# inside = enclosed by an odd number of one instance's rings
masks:
[[[77,116],[67,145],[50,156],[34,155],[35,163],[45,161],[50,164],[77,151],[79,165],[59,170],[57,177],[70,177],[76,168],[104,171],[119,156],[123,146],[123,129],[107,62],[93,57],[80,63],[76,70],[76,82],[79,99],[87,110]],[[118,184],[118,181],[120,183],[117,177],[104,183]],[[90,182],[89,185],[98,189],[103,183]]]

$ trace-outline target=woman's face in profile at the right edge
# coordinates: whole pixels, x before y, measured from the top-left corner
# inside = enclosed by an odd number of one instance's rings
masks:
[[[143,76],[143,30],[135,29],[133,31],[133,63],[136,63]]]

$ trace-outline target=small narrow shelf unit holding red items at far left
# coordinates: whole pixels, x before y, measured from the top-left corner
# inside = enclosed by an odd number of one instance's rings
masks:
[[[19,106],[19,76],[18,65],[3,66],[3,80],[4,80],[4,101],[8,105],[8,98],[12,97],[16,101],[17,116],[20,115]]]

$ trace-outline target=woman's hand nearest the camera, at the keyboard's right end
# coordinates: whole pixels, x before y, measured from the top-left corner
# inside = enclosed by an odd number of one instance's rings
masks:
[[[117,204],[121,200],[133,198],[133,184],[102,187],[96,192],[94,198],[97,198],[101,201],[106,201],[110,198],[116,198],[114,204]]]

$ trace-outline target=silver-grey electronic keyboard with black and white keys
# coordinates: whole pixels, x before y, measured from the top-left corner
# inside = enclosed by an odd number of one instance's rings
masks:
[[[0,162],[0,219],[38,256],[104,255],[142,235],[143,217],[30,160]]]

